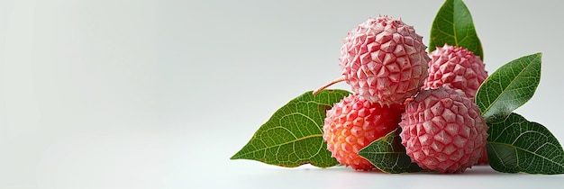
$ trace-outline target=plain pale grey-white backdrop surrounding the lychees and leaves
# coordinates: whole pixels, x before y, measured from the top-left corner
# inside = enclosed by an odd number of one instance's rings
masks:
[[[564,141],[559,1],[466,2],[487,70],[543,52],[517,112]],[[385,175],[229,160],[278,107],[340,75],[368,16],[428,44],[442,1],[0,0],[0,188],[532,188],[562,175]],[[347,85],[334,85],[349,89]]]

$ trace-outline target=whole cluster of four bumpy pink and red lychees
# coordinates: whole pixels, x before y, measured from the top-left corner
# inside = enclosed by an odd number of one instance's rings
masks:
[[[385,15],[368,18],[343,40],[342,76],[329,85],[345,81],[354,94],[335,103],[323,125],[341,164],[375,168],[359,150],[398,128],[407,155],[425,169],[459,173],[483,155],[487,125],[473,97],[487,77],[484,64],[448,45],[427,54],[422,39]]]

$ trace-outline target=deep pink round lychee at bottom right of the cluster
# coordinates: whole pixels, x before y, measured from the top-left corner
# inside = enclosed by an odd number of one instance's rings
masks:
[[[423,90],[405,106],[400,137],[417,165],[441,173],[464,172],[487,144],[487,125],[478,106],[459,90]]]

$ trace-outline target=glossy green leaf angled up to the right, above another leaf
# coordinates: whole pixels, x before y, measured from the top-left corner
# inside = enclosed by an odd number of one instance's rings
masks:
[[[479,87],[476,103],[487,121],[503,120],[532,98],[541,82],[541,53],[499,67]]]

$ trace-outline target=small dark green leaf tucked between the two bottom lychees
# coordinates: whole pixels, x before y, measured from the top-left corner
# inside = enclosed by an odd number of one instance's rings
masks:
[[[372,165],[386,173],[420,172],[422,168],[411,162],[405,153],[405,147],[399,137],[400,129],[391,131],[386,136],[374,140],[367,147],[359,150],[359,156],[366,158]]]

